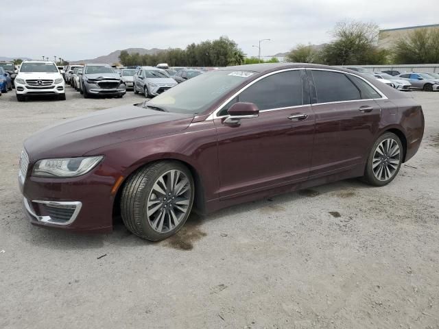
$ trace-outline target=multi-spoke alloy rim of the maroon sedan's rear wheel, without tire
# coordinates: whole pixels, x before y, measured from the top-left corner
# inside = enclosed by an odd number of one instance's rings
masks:
[[[393,138],[381,141],[372,160],[372,171],[377,180],[385,182],[390,180],[399,168],[401,162],[401,149]]]

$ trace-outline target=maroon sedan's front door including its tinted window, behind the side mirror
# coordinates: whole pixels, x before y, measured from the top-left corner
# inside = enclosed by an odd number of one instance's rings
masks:
[[[303,83],[305,81],[305,84]],[[259,117],[223,123],[233,103],[258,106]],[[215,119],[222,199],[300,182],[308,177],[314,115],[305,70],[274,73],[248,86]]]

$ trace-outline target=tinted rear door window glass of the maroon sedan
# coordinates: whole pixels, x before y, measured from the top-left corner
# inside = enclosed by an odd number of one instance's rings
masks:
[[[313,71],[313,77],[318,103],[361,99],[358,88],[343,73]]]

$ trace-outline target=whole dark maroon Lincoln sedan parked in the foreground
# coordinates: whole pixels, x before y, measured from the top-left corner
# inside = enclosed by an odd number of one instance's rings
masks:
[[[205,73],[142,106],[28,138],[19,182],[38,226],[165,239],[202,214],[362,177],[391,182],[418,151],[418,103],[361,73],[254,64]]]

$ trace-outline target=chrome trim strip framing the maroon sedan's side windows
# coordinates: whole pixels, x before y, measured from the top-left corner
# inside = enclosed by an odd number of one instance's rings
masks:
[[[267,73],[265,75],[262,75],[261,77],[258,77],[256,80],[254,80],[254,81],[250,82],[250,84],[247,84],[246,86],[242,87],[236,93],[234,93],[232,96],[230,96],[228,99],[226,99],[226,101],[224,101],[220,106],[218,106],[218,108],[216,110],[214,110],[211,114],[209,114],[209,117],[207,117],[205,121],[228,117],[227,114],[226,115],[222,115],[222,116],[218,116],[217,113],[220,112],[222,110],[222,108],[224,108],[224,106],[226,106],[226,104],[229,101],[231,101],[232,99],[237,97],[240,93],[242,93],[248,87],[252,86],[252,84],[255,84],[259,80],[262,80],[264,77],[268,77],[268,76],[274,75],[276,73],[282,73],[282,72],[287,72],[287,71],[297,71],[297,70],[329,71],[329,72],[336,72],[336,73],[343,73],[343,74],[353,75],[354,77],[358,77],[359,79],[361,79],[364,82],[366,82],[366,84],[368,84],[370,87],[373,88],[373,90],[375,90],[377,93],[379,93],[379,95],[381,95],[381,98],[353,99],[351,101],[329,101],[329,102],[325,102],[325,103],[302,104],[302,105],[296,105],[296,106],[287,106],[287,107],[283,107],[283,108],[269,108],[267,110],[261,110],[261,112],[269,112],[269,111],[276,111],[276,110],[286,110],[287,108],[301,108],[301,107],[304,107],[304,106],[315,106],[315,105],[335,104],[335,103],[348,103],[348,102],[352,102],[352,101],[375,101],[376,99],[388,99],[388,97],[385,96],[381,92],[381,90],[379,90],[373,84],[368,82],[368,80],[364,79],[364,77],[360,77],[359,75],[357,75],[355,73],[340,71],[340,70],[336,70],[336,69],[319,69],[319,68],[294,67],[294,68],[291,68],[291,69],[282,69],[282,70],[270,72],[270,73]]]

